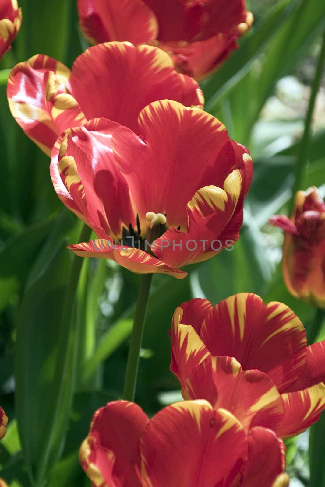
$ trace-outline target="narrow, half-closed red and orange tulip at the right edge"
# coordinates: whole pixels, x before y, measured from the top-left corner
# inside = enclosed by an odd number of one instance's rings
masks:
[[[288,291],[325,308],[325,204],[316,187],[298,191],[291,218],[273,216],[285,230],[282,270]]]

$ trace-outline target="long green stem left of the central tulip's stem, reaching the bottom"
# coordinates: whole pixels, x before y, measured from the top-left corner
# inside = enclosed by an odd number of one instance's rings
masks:
[[[92,229],[84,224],[82,226],[78,242],[88,242],[91,232]],[[64,386],[66,383],[65,370],[66,370],[66,365],[68,363],[68,360],[70,358],[69,356],[69,352],[70,352],[69,348],[71,347],[70,337],[77,332],[77,330],[75,329],[76,320],[73,319],[73,313],[74,313],[77,286],[78,286],[82,263],[83,263],[83,259],[75,255],[73,258],[73,262],[71,265],[67,286],[65,290],[62,317],[61,317],[59,337],[58,337],[57,364],[56,364],[55,375],[53,379],[53,384],[58,384],[59,386],[58,388],[54,387],[53,389],[54,397],[53,397],[52,404],[54,405],[54,407],[49,411],[49,418],[48,418],[50,427],[45,433],[46,438],[43,444],[46,446],[38,462],[36,486],[39,487],[44,485],[44,478],[47,475],[47,465],[51,454],[53,437],[58,427],[57,419],[60,413],[61,399],[64,393],[64,389],[65,389]],[[70,389],[71,389],[70,400],[72,400],[73,388],[71,387]],[[64,431],[62,431],[62,435],[63,434]]]

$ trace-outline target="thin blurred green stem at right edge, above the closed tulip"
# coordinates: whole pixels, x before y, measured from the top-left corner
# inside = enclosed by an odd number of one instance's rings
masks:
[[[305,176],[305,169],[308,161],[308,151],[309,151],[309,144],[310,144],[310,127],[312,122],[312,115],[315,107],[316,96],[322,80],[324,63],[325,63],[325,32],[323,34],[323,43],[318,58],[315,78],[311,87],[311,94],[309,98],[309,105],[308,105],[308,110],[307,110],[306,120],[305,120],[305,130],[301,141],[301,147],[300,147],[300,152],[298,155],[298,161],[296,166],[295,182],[292,190],[293,192],[292,192],[292,200],[290,203],[290,215],[292,213],[292,209],[294,206],[295,194],[299,189],[302,189],[301,185],[303,183],[303,179]]]

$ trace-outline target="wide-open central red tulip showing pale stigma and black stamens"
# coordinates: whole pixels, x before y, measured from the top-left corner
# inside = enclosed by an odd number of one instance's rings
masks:
[[[224,125],[170,100],[139,114],[138,134],[95,119],[58,138],[51,176],[98,240],[70,245],[136,273],[187,275],[239,238],[252,162]]]

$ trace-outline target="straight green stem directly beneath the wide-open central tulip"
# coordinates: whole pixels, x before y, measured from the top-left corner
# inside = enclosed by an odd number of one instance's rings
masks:
[[[152,274],[142,274],[140,280],[129,347],[129,355],[126,364],[124,379],[123,399],[126,399],[127,401],[134,400],[141,342],[143,337],[144,323],[146,319],[149,291],[152,278]]]

